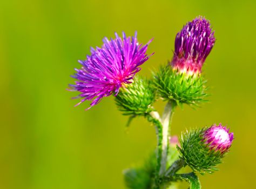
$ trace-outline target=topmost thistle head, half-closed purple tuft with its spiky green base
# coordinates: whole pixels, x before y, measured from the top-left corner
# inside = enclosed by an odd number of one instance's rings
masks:
[[[155,84],[164,100],[198,105],[205,101],[206,80],[201,68],[215,43],[210,22],[203,17],[188,22],[177,33],[172,62],[155,75]]]

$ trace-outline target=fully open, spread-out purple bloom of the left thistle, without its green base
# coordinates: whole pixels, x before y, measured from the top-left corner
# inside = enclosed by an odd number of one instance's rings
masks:
[[[149,59],[146,50],[152,39],[143,46],[138,43],[137,32],[134,37],[127,38],[123,32],[123,39],[117,33],[115,35],[116,39],[105,37],[102,48],[91,48],[91,56],[86,60],[78,60],[82,68],[75,69],[77,73],[71,77],[77,81],[70,86],[73,91],[81,92],[78,96],[83,98],[80,103],[92,100],[90,105],[94,106],[103,97],[112,93],[117,95],[121,86],[132,83],[135,73],[141,69],[139,66]]]

